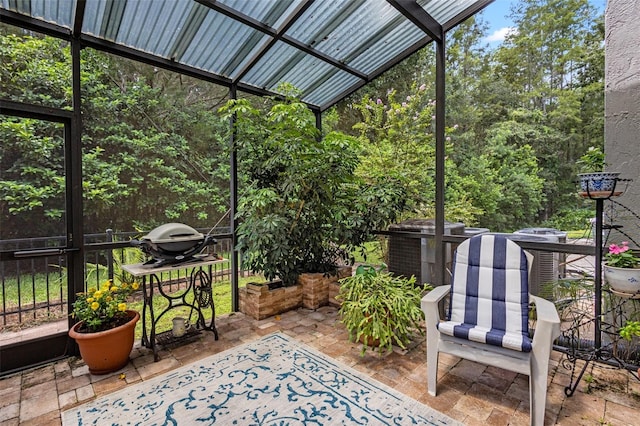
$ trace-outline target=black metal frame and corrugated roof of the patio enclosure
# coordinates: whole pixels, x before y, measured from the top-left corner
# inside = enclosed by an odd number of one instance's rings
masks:
[[[3,250],[0,262],[60,256],[68,268],[68,303],[84,290],[80,52],[89,47],[253,95],[278,95],[291,83],[321,114],[385,71],[436,43],[436,227],[444,247],[445,34],[490,0],[0,0],[3,23],[71,46],[73,105],[57,109],[0,99],[0,113],[64,126],[66,238],[54,248]],[[230,141],[232,143],[233,141]],[[231,213],[237,205],[231,153]],[[0,218],[0,220],[4,220]],[[235,243],[231,221],[231,241]],[[2,226],[0,224],[0,226]],[[46,236],[43,236],[46,237]],[[442,250],[435,282],[443,282]],[[231,258],[237,310],[237,253]],[[69,320],[71,322],[71,320]],[[69,324],[69,326],[71,323]],[[0,348],[0,373],[69,355],[66,331]]]

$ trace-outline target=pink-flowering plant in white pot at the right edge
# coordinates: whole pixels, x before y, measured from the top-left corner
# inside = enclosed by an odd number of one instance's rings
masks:
[[[615,292],[624,294],[640,294],[640,258],[629,243],[610,244],[604,255],[604,279]]]

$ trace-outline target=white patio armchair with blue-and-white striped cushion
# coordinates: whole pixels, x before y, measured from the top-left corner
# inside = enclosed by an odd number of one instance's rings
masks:
[[[422,299],[427,327],[427,389],[436,395],[438,354],[529,376],[532,425],[544,424],[549,357],[560,335],[553,303],[528,292],[533,256],[504,235],[477,235],[456,250],[451,285]],[[450,295],[449,320],[439,302]],[[537,321],[529,336],[529,303]]]

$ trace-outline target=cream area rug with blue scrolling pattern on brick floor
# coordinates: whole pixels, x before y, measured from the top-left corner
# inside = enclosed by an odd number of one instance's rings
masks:
[[[461,425],[279,333],[64,411],[62,423]]]

